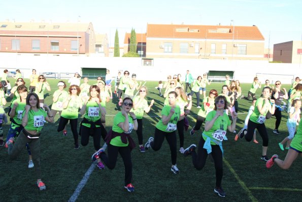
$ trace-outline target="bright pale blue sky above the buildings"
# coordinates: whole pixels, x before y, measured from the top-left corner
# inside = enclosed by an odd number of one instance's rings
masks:
[[[274,43],[302,40],[302,1],[281,0],[11,0],[0,2],[0,21],[92,22],[97,33],[107,33],[120,42],[131,27],[146,32],[147,23],[258,26],[265,47]],[[271,33],[271,34],[270,34]]]

